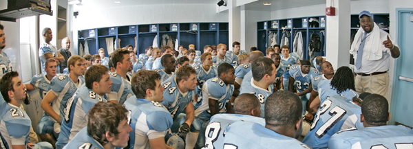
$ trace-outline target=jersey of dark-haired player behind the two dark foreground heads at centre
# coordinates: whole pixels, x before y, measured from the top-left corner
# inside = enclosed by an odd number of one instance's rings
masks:
[[[248,81],[249,80],[249,81]],[[274,91],[274,84],[271,84],[268,86],[267,89],[262,89],[261,87],[257,87],[254,84],[254,79],[252,77],[252,72],[248,72],[246,73],[246,76],[244,78],[244,80],[242,80],[242,87],[240,89],[240,95],[242,93],[252,93],[255,96],[257,96],[258,100],[260,100],[260,104],[261,104],[261,115],[260,117],[264,117],[265,113],[264,113],[264,104],[265,104],[265,100],[266,98],[268,98],[269,95],[271,95],[271,93],[273,93]]]

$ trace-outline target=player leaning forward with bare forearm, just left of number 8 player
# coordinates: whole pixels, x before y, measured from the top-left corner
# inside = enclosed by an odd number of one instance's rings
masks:
[[[83,71],[86,71],[85,59],[81,56],[72,56],[67,60],[67,65],[70,74],[55,76],[50,82],[51,90],[43,96],[41,102],[41,108],[45,111],[42,119],[45,120],[45,124],[54,124],[56,134],[59,134],[60,125],[66,114],[67,100],[72,98],[74,92],[85,83],[81,77]],[[58,142],[56,142],[56,148],[59,148]]]

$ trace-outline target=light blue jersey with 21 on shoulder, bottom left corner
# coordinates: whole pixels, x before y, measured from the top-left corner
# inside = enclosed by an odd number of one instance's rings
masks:
[[[5,104],[1,109],[0,144],[1,148],[13,145],[28,146],[32,121],[27,113],[13,104]]]

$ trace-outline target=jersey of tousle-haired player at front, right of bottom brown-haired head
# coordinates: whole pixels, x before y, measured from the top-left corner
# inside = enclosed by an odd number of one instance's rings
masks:
[[[123,104],[129,111],[130,148],[150,148],[149,138],[164,137],[165,131],[171,128],[172,117],[167,108],[159,102],[128,98]]]

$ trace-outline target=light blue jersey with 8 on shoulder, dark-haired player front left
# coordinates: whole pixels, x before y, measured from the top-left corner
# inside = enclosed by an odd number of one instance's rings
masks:
[[[87,113],[98,102],[107,102],[107,100],[83,84],[67,102],[66,115],[56,144],[65,146],[66,140],[70,141],[82,128],[85,128],[87,126]]]

